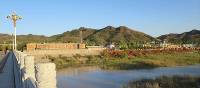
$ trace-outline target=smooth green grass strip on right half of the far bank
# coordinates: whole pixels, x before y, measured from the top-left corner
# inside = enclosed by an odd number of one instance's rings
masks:
[[[134,58],[110,59],[103,65],[104,69],[141,69],[155,67],[172,67],[200,64],[200,53],[160,53]]]

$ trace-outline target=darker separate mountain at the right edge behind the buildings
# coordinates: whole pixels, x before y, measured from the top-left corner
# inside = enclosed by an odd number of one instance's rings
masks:
[[[159,36],[158,39],[170,43],[200,43],[200,30],[191,30],[181,34],[166,34]]]

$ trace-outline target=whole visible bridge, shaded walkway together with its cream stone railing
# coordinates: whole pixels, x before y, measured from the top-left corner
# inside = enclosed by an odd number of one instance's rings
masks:
[[[54,63],[34,63],[20,51],[8,52],[0,62],[0,88],[56,88]]]

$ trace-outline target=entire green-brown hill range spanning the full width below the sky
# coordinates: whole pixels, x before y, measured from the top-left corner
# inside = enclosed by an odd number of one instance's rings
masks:
[[[197,44],[200,46],[200,31],[192,30],[190,32],[184,32],[182,34],[168,34],[162,35],[157,39],[147,35],[145,33],[135,31],[125,26],[112,27],[107,26],[102,29],[92,29],[81,27],[72,31],[66,31],[62,34],[53,36],[43,35],[17,35],[18,49],[22,50],[26,47],[26,43],[79,43],[80,42],[80,30],[83,30],[84,43],[87,45],[101,45],[105,46],[111,43],[115,43],[120,49],[137,49],[141,48],[142,44],[146,44],[152,41],[157,42],[159,40],[166,40],[175,44]],[[8,34],[0,34],[0,44],[12,44],[12,36]],[[0,46],[1,49],[1,46]]]

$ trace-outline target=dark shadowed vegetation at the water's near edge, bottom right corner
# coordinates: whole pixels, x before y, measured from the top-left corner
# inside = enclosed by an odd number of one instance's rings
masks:
[[[156,79],[130,81],[123,88],[199,88],[200,77],[192,76],[162,76]]]

